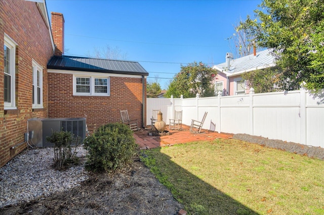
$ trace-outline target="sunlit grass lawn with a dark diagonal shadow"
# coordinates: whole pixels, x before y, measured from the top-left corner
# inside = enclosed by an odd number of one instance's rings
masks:
[[[189,214],[324,214],[324,161],[234,139],[143,151]]]

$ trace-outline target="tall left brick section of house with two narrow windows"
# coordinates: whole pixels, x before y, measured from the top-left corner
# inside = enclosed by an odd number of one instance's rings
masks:
[[[54,42],[45,1],[0,1],[0,167],[25,147],[27,120],[48,117]]]

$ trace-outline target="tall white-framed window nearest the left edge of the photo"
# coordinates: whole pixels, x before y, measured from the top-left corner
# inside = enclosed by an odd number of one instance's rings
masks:
[[[16,43],[5,34],[4,44],[4,106],[5,110],[16,109],[15,67]]]

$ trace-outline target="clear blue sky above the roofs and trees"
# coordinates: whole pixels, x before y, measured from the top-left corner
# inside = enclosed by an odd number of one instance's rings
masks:
[[[97,47],[120,50],[121,60],[137,61],[167,89],[181,65],[225,62],[227,40],[240,17],[254,18],[261,0],[108,1],[46,0],[47,10],[65,20],[65,55],[94,55]],[[126,57],[125,57],[126,56]]]

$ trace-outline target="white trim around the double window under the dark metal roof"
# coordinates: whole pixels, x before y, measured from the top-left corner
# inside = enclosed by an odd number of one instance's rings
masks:
[[[76,92],[76,78],[90,78],[90,93]],[[95,78],[107,79],[107,93],[95,93]],[[110,78],[107,76],[73,75],[73,95],[110,96]]]

